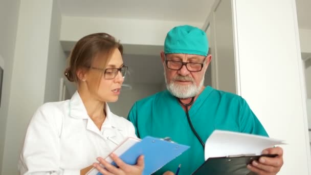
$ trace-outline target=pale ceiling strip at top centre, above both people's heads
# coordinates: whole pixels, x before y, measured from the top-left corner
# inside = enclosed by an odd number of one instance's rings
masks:
[[[204,23],[215,0],[58,0],[65,16]]]

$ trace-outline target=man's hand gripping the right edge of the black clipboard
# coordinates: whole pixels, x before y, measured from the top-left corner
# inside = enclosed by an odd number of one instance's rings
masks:
[[[281,147],[274,147],[264,149],[263,155],[278,155],[275,158],[261,157],[258,161],[253,161],[252,165],[249,164],[247,167],[256,172],[258,175],[275,175],[280,171],[283,165],[283,149]]]

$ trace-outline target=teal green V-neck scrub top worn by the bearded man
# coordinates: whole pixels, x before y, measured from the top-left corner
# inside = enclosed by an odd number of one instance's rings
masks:
[[[204,142],[215,129],[268,137],[242,97],[215,90],[210,86],[194,101],[189,115],[196,132]],[[204,163],[204,149],[193,134],[182,106],[168,91],[137,101],[129,112],[128,120],[134,124],[139,138],[170,137],[176,143],[190,146],[182,155],[154,174],[175,172],[181,164],[179,174],[189,175]]]

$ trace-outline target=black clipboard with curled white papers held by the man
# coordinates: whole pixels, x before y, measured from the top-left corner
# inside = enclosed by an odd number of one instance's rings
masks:
[[[283,141],[251,134],[215,130],[205,144],[205,162],[192,175],[250,175],[247,165],[262,155],[263,149],[284,144]]]

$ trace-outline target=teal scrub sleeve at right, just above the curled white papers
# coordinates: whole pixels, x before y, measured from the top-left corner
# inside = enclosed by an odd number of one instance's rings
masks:
[[[240,129],[242,133],[269,137],[245,99],[241,100],[240,105]]]

